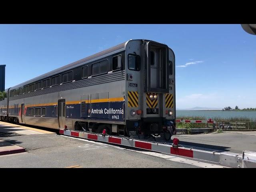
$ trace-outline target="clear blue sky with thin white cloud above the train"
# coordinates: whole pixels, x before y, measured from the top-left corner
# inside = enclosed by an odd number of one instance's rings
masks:
[[[11,87],[130,39],[176,56],[176,107],[256,107],[256,36],[240,24],[0,24]]]

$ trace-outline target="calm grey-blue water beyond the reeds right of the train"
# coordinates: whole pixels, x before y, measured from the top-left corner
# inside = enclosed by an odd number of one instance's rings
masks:
[[[256,111],[198,111],[198,110],[176,110],[176,116],[204,116],[207,119],[220,117],[247,117],[256,121]],[[196,119],[195,119],[196,120]]]

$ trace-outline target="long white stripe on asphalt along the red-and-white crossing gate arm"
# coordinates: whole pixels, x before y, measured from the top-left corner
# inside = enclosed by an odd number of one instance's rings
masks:
[[[164,159],[169,160],[169,161],[174,161],[174,162],[179,162],[179,163],[184,163],[184,164],[190,164],[190,165],[198,166],[198,167],[201,167],[201,168],[229,168],[229,167],[226,167],[226,166],[221,166],[221,165],[207,163],[207,162],[201,162],[199,160],[191,160],[191,159],[187,159],[187,158],[162,154],[162,153],[158,153],[158,152],[138,151],[138,150],[126,149],[126,148],[122,148],[122,147],[118,147],[118,146],[113,146],[111,144],[99,143],[99,142],[96,142],[96,141],[90,141],[90,140],[81,139],[81,138],[74,138],[74,137],[65,136],[65,135],[62,135],[62,136],[72,138],[72,139],[78,139],[78,140],[82,140],[82,141],[86,141],[86,142],[91,142],[91,143],[95,143],[95,144],[98,144],[98,145],[111,146],[111,147],[122,149],[122,150],[129,150],[129,151],[133,151],[133,152],[137,152],[137,153],[156,156],[156,157],[159,157],[159,158],[164,158]]]

